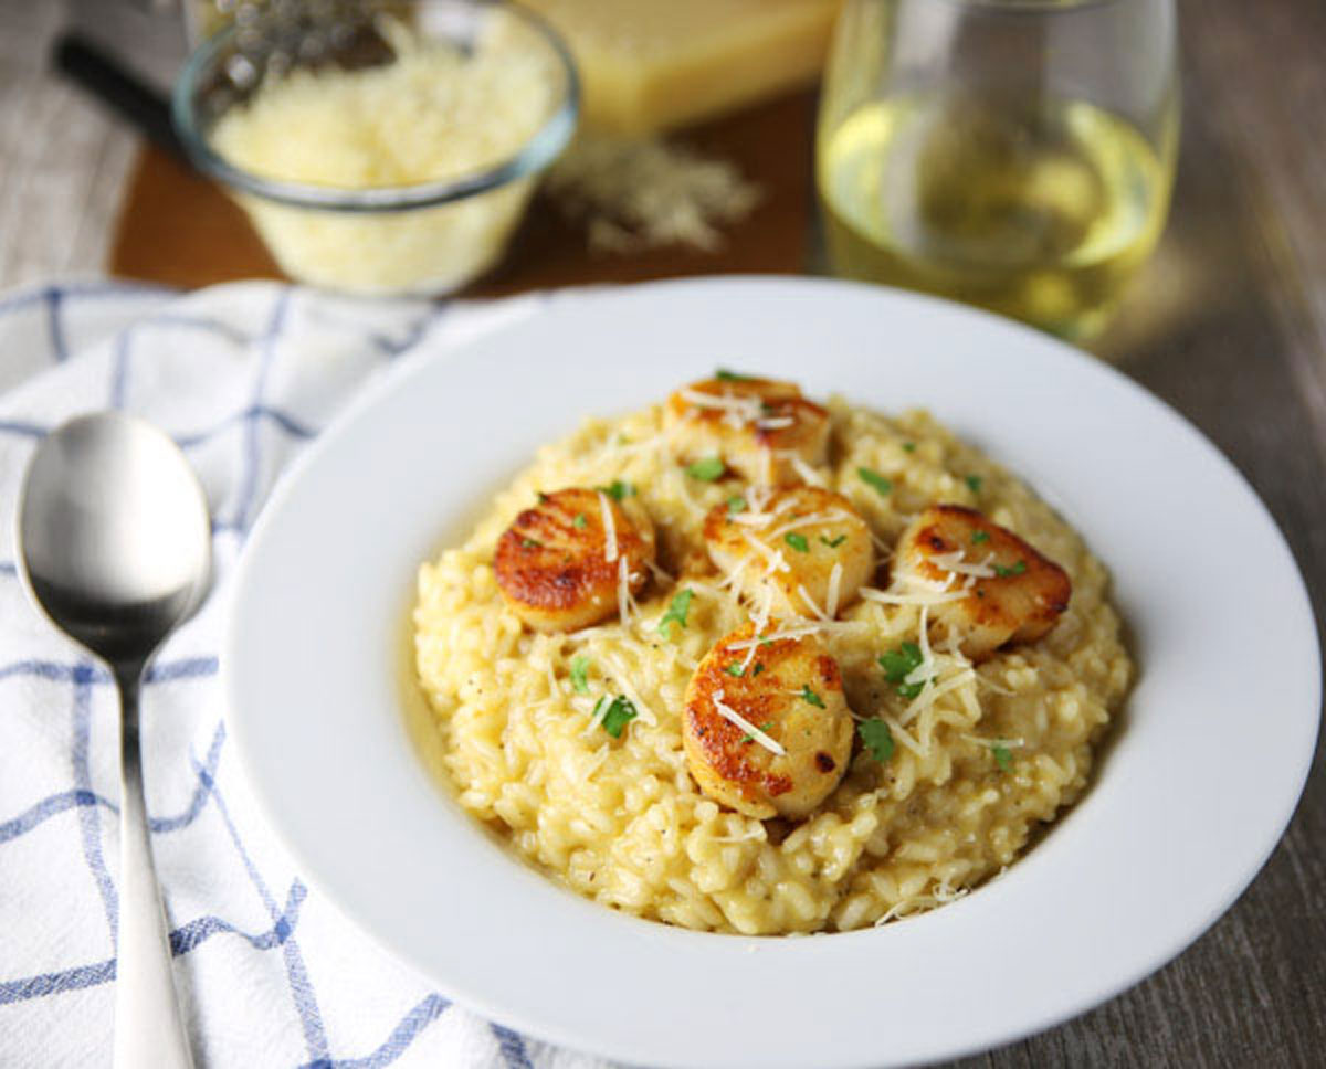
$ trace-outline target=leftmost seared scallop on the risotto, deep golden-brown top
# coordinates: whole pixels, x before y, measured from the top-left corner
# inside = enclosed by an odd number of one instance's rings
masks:
[[[575,631],[638,593],[654,560],[654,525],[635,502],[570,487],[540,494],[497,539],[507,604],[534,631]]]

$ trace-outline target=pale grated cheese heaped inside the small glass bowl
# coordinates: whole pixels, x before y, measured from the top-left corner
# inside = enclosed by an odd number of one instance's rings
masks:
[[[557,107],[564,73],[530,26],[495,20],[469,50],[385,20],[394,62],[267,78],[210,134],[235,167],[343,189],[481,174],[514,156]],[[534,179],[408,212],[333,212],[239,200],[286,274],[353,293],[439,293],[501,254]]]

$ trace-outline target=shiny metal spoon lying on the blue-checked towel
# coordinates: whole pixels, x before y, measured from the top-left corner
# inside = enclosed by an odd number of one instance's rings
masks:
[[[202,601],[210,531],[207,501],[183,453],[119,412],[50,432],[19,497],[24,584],[57,628],[106,662],[119,687],[117,1069],[192,1065],[143,805],[138,687],[152,652]]]

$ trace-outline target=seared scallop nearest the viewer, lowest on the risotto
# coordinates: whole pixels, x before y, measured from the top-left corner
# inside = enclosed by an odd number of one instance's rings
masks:
[[[700,661],[682,731],[700,789],[760,820],[809,816],[851,756],[838,662],[814,636],[768,641],[749,624]]]

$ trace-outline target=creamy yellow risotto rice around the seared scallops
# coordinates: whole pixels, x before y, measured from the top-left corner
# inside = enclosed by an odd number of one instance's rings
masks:
[[[927,505],[979,507],[1067,571],[1067,612],[1045,640],[963,669],[965,680],[908,719],[910,702],[878,657],[916,640],[920,609],[854,601],[841,617],[855,625],[822,637],[858,718],[890,723],[892,755],[880,764],[858,743],[843,782],[801,824],[727,811],[687,772],[682,713],[699,660],[747,620],[700,535],[705,510],[737,487],[687,480],[658,407],[587,421],[540,450],[463,546],[422,567],[414,616],[416,668],[460,803],[577,891],[690,929],[859,929],[943,905],[998,873],[1086,786],[1093,744],[1131,676],[1105,568],[1026,486],[927,413],[886,419],[834,400],[830,416],[821,474],[882,544]],[[862,481],[861,468],[888,478],[891,491]],[[525,631],[493,576],[499,535],[538,490],[613,480],[636,487],[668,576],[646,587],[629,627]],[[682,587],[693,599],[668,640],[658,625]],[[587,693],[573,685],[575,658],[587,660]],[[605,694],[639,710],[619,739],[591,722]]]

